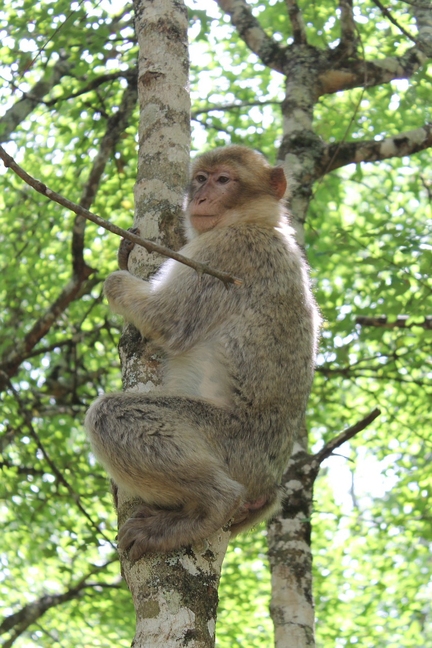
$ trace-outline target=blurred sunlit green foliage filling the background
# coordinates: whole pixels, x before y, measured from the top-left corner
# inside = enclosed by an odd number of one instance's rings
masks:
[[[282,0],[250,4],[267,34],[289,42]],[[408,47],[372,1],[354,4],[368,58]],[[299,5],[311,44],[337,41],[336,3]],[[389,5],[400,24],[413,29],[405,3]],[[243,143],[274,161],[282,139],[282,75],[248,51],[215,3],[190,0],[188,6],[193,152]],[[125,75],[136,67],[130,8],[93,0],[10,0],[0,6],[0,137],[21,93],[49,78],[65,51],[73,64],[6,141],[32,176],[75,202],[106,119],[119,106]],[[101,75],[111,78],[80,94]],[[315,130],[339,141],[418,128],[430,121],[430,97],[425,67],[409,82],[322,97]],[[132,224],[137,124],[138,110],[91,205],[121,227]],[[71,277],[74,216],[3,168],[0,182],[4,360]],[[307,255],[325,319],[307,419],[311,450],[375,406],[382,411],[373,426],[341,448],[341,456],[326,461],[316,483],[314,588],[317,644],[323,647],[418,648],[431,631],[431,332],[422,327],[431,315],[431,192],[426,150],[328,174],[317,183],[309,208]],[[31,612],[32,603],[46,596],[53,603],[45,614],[35,614],[28,627],[14,626],[21,633],[14,646],[108,648],[132,640],[134,610],[112,562],[116,531],[108,484],[82,430],[91,400],[120,387],[121,321],[101,297],[102,280],[115,270],[117,245],[117,237],[87,225],[84,255],[97,273],[12,376],[18,398],[10,388],[3,392],[5,647],[14,639],[11,615],[25,606]],[[389,321],[409,316],[409,327],[356,323],[358,316],[379,315]],[[217,645],[272,645],[269,596],[265,535],[258,529],[236,538],[224,563]]]

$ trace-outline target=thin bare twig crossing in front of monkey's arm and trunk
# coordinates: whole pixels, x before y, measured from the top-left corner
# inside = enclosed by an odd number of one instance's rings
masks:
[[[46,196],[50,200],[53,200],[59,205],[62,205],[62,207],[70,209],[75,214],[78,214],[78,216],[83,216],[84,218],[87,218],[87,220],[91,220],[91,222],[95,223],[97,226],[108,229],[108,231],[112,232],[113,234],[117,234],[119,237],[127,238],[128,240],[136,243],[142,248],[147,249],[148,252],[157,252],[158,254],[162,254],[164,257],[169,257],[170,259],[174,259],[180,263],[183,263],[185,266],[193,268],[193,270],[198,273],[198,276],[207,274],[211,275],[212,277],[216,277],[217,279],[220,279],[227,288],[227,284],[230,283],[235,284],[236,286],[240,286],[243,283],[242,279],[234,277],[234,275],[230,275],[228,272],[215,270],[214,268],[208,266],[206,263],[200,263],[193,259],[188,259],[187,257],[184,257],[182,254],[175,252],[172,249],[165,248],[165,246],[158,245],[157,243],[147,240],[147,238],[140,238],[136,234],[132,234],[132,232],[129,232],[126,229],[117,227],[117,225],[114,225],[114,223],[111,223],[109,220],[105,220],[104,218],[101,218],[101,216],[93,214],[93,212],[88,211],[88,209],[80,207],[80,205],[77,205],[77,203],[74,203],[71,200],[67,200],[67,198],[64,198],[60,194],[49,189],[49,187],[47,187],[47,185],[44,185],[40,180],[36,180],[36,178],[29,176],[29,174],[25,172],[23,168],[19,167],[14,158],[6,153],[5,149],[2,146],[0,146],[0,158],[3,160],[5,167],[11,168],[12,171],[14,171],[17,176],[19,176],[19,178],[23,179],[28,185],[30,185],[30,187],[42,194],[42,196]]]

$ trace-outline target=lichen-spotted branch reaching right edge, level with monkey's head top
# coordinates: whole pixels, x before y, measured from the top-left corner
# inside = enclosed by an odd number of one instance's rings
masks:
[[[359,162],[376,162],[389,157],[409,156],[432,146],[432,124],[385,137],[379,141],[339,142],[326,146],[318,175]]]

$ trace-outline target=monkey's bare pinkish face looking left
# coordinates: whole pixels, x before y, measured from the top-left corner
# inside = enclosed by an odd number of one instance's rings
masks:
[[[222,216],[238,200],[239,178],[233,168],[223,165],[197,168],[189,187],[189,218],[198,232],[216,227]]]

